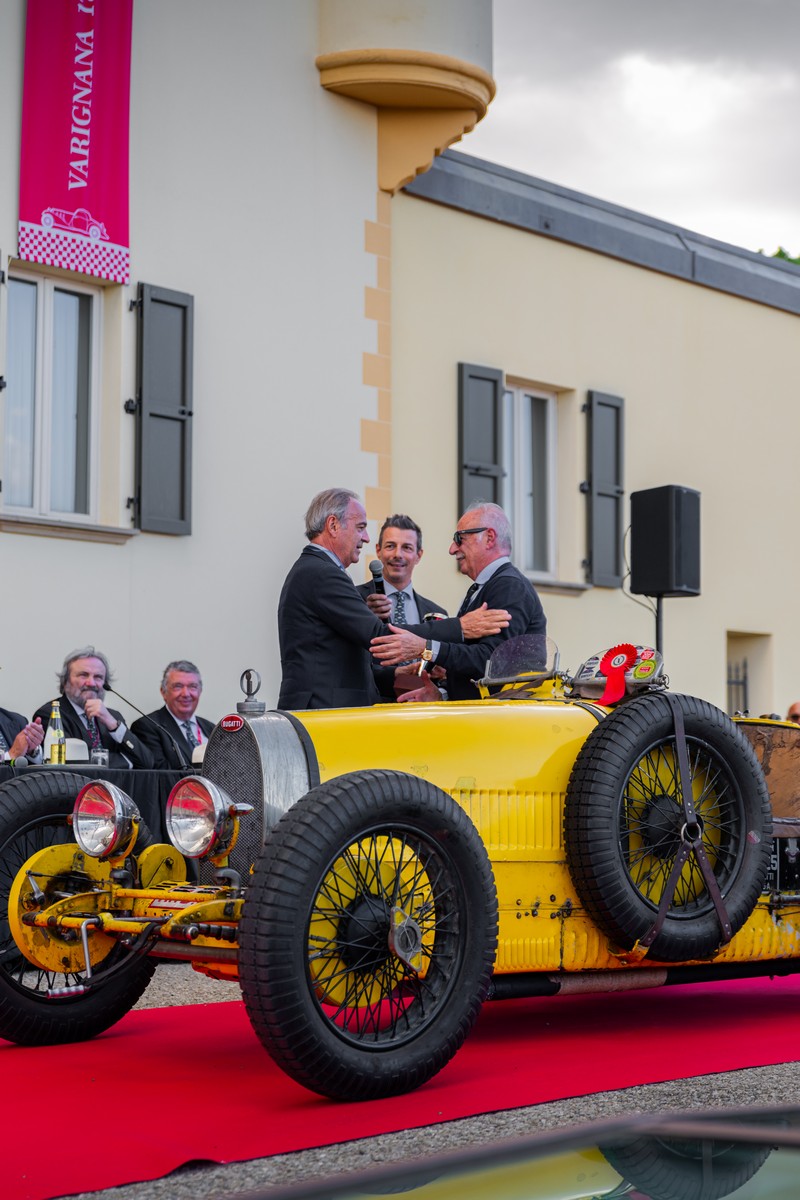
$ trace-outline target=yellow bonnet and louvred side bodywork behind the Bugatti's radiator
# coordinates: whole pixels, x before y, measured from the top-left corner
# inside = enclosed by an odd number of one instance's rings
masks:
[[[604,710],[552,683],[531,700],[319,709],[295,714],[321,781],[354,769],[402,770],[435,784],[471,817],[494,869],[500,926],[495,973],[630,970],[579,905],[563,818],[576,756]],[[664,768],[667,769],[667,768]],[[697,880],[687,866],[685,888]],[[800,954],[800,906],[762,898],[714,961]],[[652,966],[652,959],[646,960]]]

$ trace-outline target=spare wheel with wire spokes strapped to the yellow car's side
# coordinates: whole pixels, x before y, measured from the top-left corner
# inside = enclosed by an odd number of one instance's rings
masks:
[[[684,715],[703,846],[735,934],[766,880],[769,793],[756,755],[734,722],[705,701],[674,698]],[[625,950],[654,926],[682,823],[672,710],[663,695],[642,696],[618,708],[587,738],[572,768],[564,814],[566,857],[581,902]],[[650,958],[708,958],[722,942],[712,898],[692,854]]]

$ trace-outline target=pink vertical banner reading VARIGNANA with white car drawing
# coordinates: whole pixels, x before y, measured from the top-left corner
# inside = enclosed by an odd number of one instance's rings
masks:
[[[19,257],[127,283],[133,0],[28,0]]]

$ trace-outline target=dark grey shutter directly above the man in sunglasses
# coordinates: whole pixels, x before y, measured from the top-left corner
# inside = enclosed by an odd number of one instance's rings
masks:
[[[503,372],[458,364],[458,512],[503,504]]]

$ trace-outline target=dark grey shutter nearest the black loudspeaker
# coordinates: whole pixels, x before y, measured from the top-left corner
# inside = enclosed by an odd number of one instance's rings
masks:
[[[589,502],[587,578],[599,588],[619,588],[622,586],[625,401],[621,396],[590,391],[587,414],[589,420],[589,480],[584,485]]]

